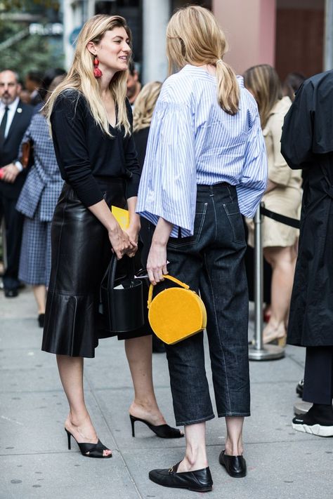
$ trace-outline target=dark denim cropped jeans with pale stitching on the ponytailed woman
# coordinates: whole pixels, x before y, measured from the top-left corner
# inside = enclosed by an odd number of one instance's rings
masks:
[[[169,239],[169,274],[200,292],[207,308],[207,336],[218,417],[248,416],[246,242],[237,193],[226,183],[197,186],[192,237]],[[203,333],[167,345],[177,425],[214,418],[204,367]]]

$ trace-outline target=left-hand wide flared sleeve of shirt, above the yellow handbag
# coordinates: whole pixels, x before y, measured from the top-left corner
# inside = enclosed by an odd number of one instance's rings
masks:
[[[155,107],[138,191],[137,213],[174,225],[171,237],[193,234],[197,196],[195,132],[187,102],[175,102],[164,88]]]

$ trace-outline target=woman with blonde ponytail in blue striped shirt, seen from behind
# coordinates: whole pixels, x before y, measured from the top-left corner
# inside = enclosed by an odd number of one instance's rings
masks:
[[[214,15],[183,8],[172,16],[166,37],[170,69],[179,72],[166,79],[157,101],[136,209],[156,225],[147,266],[152,284],[169,271],[200,291],[207,307],[217,413],[227,425],[219,460],[230,476],[244,477],[249,363],[241,213],[253,216],[266,189],[265,145],[254,98],[223,62],[226,39]],[[209,491],[205,422],[214,412],[203,334],[167,345],[166,353],[186,452],[170,470],[152,470],[150,479]]]

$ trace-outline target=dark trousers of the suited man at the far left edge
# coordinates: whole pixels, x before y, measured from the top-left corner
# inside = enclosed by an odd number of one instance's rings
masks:
[[[6,225],[7,267],[4,273],[4,288],[18,288],[18,265],[22,239],[23,215],[16,211],[17,199],[0,194],[0,220],[4,218]]]

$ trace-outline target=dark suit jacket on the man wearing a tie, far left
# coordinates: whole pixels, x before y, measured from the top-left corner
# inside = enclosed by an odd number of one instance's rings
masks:
[[[24,104],[21,101],[18,102],[18,107],[11,122],[11,128],[9,128],[4,145],[0,149],[0,168],[18,159],[20,143],[30,124],[32,114],[34,114],[32,106]],[[22,171],[16,177],[13,184],[0,180],[0,195],[3,194],[4,197],[10,199],[18,199],[22,185],[25,182],[25,177],[26,172]]]

